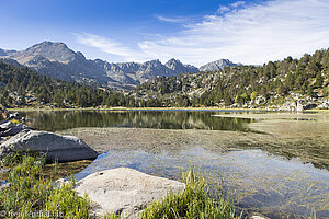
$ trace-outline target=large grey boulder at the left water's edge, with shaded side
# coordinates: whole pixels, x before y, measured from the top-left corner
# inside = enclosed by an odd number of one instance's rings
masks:
[[[93,160],[98,153],[81,139],[48,131],[23,130],[0,145],[0,158],[10,152],[46,153],[48,160],[59,162]]]

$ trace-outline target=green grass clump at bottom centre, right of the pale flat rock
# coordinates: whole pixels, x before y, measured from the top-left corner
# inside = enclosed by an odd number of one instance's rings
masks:
[[[234,219],[234,205],[224,196],[211,197],[205,178],[198,178],[193,171],[183,175],[186,188],[181,194],[169,193],[141,214],[141,219]]]

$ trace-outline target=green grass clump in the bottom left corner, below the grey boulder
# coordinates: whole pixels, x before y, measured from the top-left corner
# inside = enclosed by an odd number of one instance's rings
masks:
[[[9,185],[0,191],[0,211],[14,218],[90,218],[89,200],[72,191],[75,182],[56,185],[42,176],[44,165],[45,158],[16,158],[5,177]]]

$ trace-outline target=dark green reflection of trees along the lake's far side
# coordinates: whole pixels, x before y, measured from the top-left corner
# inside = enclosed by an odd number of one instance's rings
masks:
[[[76,127],[136,127],[156,129],[207,129],[246,131],[248,119],[212,117],[212,112],[188,111],[59,111],[25,112],[30,125],[42,130]]]

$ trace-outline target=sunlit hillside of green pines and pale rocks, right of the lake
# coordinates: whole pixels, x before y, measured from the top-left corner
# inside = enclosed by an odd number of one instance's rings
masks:
[[[287,57],[261,67],[234,66],[216,72],[160,77],[135,91],[138,99],[157,99],[168,106],[231,106],[292,110],[298,100],[329,107],[329,49]]]

